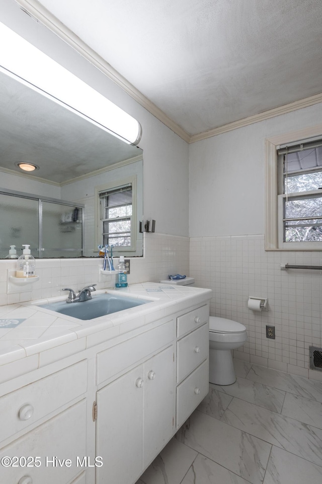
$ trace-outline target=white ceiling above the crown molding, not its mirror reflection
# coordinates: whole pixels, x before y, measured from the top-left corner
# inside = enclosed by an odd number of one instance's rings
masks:
[[[322,92],[322,0],[40,0],[189,135]]]

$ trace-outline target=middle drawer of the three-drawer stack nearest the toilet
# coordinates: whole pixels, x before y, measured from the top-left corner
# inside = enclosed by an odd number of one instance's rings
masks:
[[[209,354],[209,325],[204,324],[177,342],[177,383],[186,378]]]

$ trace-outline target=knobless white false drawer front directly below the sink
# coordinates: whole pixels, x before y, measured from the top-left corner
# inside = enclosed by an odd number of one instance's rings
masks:
[[[116,344],[97,355],[97,385],[128,369],[145,356],[171,343],[174,320]]]

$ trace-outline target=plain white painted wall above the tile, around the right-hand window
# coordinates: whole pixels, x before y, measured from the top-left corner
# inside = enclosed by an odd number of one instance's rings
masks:
[[[321,120],[316,104],[191,144],[190,236],[264,233],[265,140]]]

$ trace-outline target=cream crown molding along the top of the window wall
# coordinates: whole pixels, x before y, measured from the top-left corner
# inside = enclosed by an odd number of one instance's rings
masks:
[[[312,106],[313,104],[317,104],[319,102],[322,102],[322,93],[315,94],[314,96],[306,97],[305,99],[300,99],[299,101],[291,102],[289,104],[284,104],[284,106],[275,107],[274,109],[269,109],[268,111],[263,111],[259,114],[245,117],[244,119],[239,119],[233,123],[214,128],[210,131],[205,131],[204,133],[199,133],[198,135],[192,135],[189,143],[196,143],[196,141],[206,140],[207,138],[221,135],[227,131],[237,130],[238,128],[259,123],[265,119],[280,116],[281,114],[286,114],[287,112],[296,111],[297,109],[302,109],[303,107]]]

